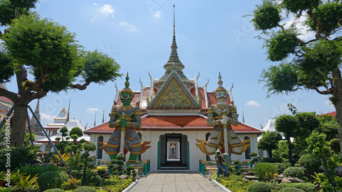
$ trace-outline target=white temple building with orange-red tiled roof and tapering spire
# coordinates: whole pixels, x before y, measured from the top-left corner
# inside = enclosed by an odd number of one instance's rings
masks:
[[[148,85],[140,82],[141,89],[134,92],[135,97],[131,101],[131,105],[137,105],[141,111],[142,126],[135,128],[137,135],[142,141],[151,141],[151,147],[140,154],[137,161],[149,159],[151,171],[181,169],[197,172],[198,160],[213,159],[213,156],[201,152],[196,146],[196,139],[207,141],[211,135],[213,127],[207,124],[209,104],[215,105],[218,101],[215,100],[214,92],[207,92],[207,83],[198,85],[199,74],[194,79],[185,77],[185,66],[177,53],[175,32],[170,58],[163,68],[163,77],[155,79],[148,74]],[[119,87],[123,88],[123,85],[116,87],[114,105],[122,105]],[[227,92],[226,104],[234,105],[232,89]],[[109,106],[111,103],[108,108]],[[244,122],[232,127],[240,140],[250,139],[251,145],[241,155],[231,154],[231,159],[250,160],[250,152],[257,152],[257,137],[261,135],[261,131]],[[97,150],[94,154],[97,159],[110,161],[109,155],[100,148],[99,142],[107,141],[113,131],[114,128],[109,128],[109,122],[104,122],[83,132],[90,135],[91,142],[96,143]],[[127,156],[129,155],[126,154]]]

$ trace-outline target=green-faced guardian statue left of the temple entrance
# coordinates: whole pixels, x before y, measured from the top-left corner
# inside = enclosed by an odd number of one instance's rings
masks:
[[[122,154],[130,152],[129,162],[133,163],[136,161],[138,154],[142,154],[150,148],[148,144],[150,144],[151,141],[144,141],[144,143],[142,143],[135,131],[135,128],[140,128],[142,126],[142,121],[140,117],[139,102],[137,102],[134,107],[131,106],[134,93],[129,88],[128,72],[124,86],[124,89],[119,94],[122,105],[119,106],[114,101],[114,105],[111,109],[109,127],[115,128],[114,133],[107,142],[99,143],[101,144],[100,148],[109,154],[110,159],[116,159],[118,152]],[[124,139],[121,138],[122,135]]]

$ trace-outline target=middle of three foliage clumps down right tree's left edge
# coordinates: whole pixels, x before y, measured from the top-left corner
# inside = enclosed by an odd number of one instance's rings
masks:
[[[291,29],[278,31],[274,38],[265,42],[267,58],[271,61],[282,61],[289,54],[295,53],[295,48],[299,44],[297,36],[298,34]]]

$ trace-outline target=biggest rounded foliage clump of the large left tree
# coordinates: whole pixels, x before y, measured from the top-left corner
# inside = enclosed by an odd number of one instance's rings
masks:
[[[8,54],[19,64],[31,66],[36,80],[47,76],[42,90],[60,92],[75,80],[82,65],[74,33],[37,14],[14,19],[10,31],[2,37]]]

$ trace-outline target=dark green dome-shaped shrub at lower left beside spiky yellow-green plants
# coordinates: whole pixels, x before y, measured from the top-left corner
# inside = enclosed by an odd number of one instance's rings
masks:
[[[45,191],[47,189],[62,187],[63,180],[58,172],[50,171],[40,174],[37,182],[40,190]]]

